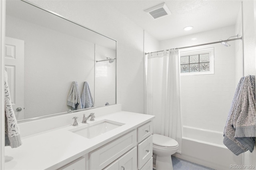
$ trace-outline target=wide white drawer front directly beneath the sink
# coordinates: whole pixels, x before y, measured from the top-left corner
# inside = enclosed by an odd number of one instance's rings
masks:
[[[137,131],[121,136],[120,138],[89,153],[89,169],[101,170],[114,160],[128,152],[137,144]]]

